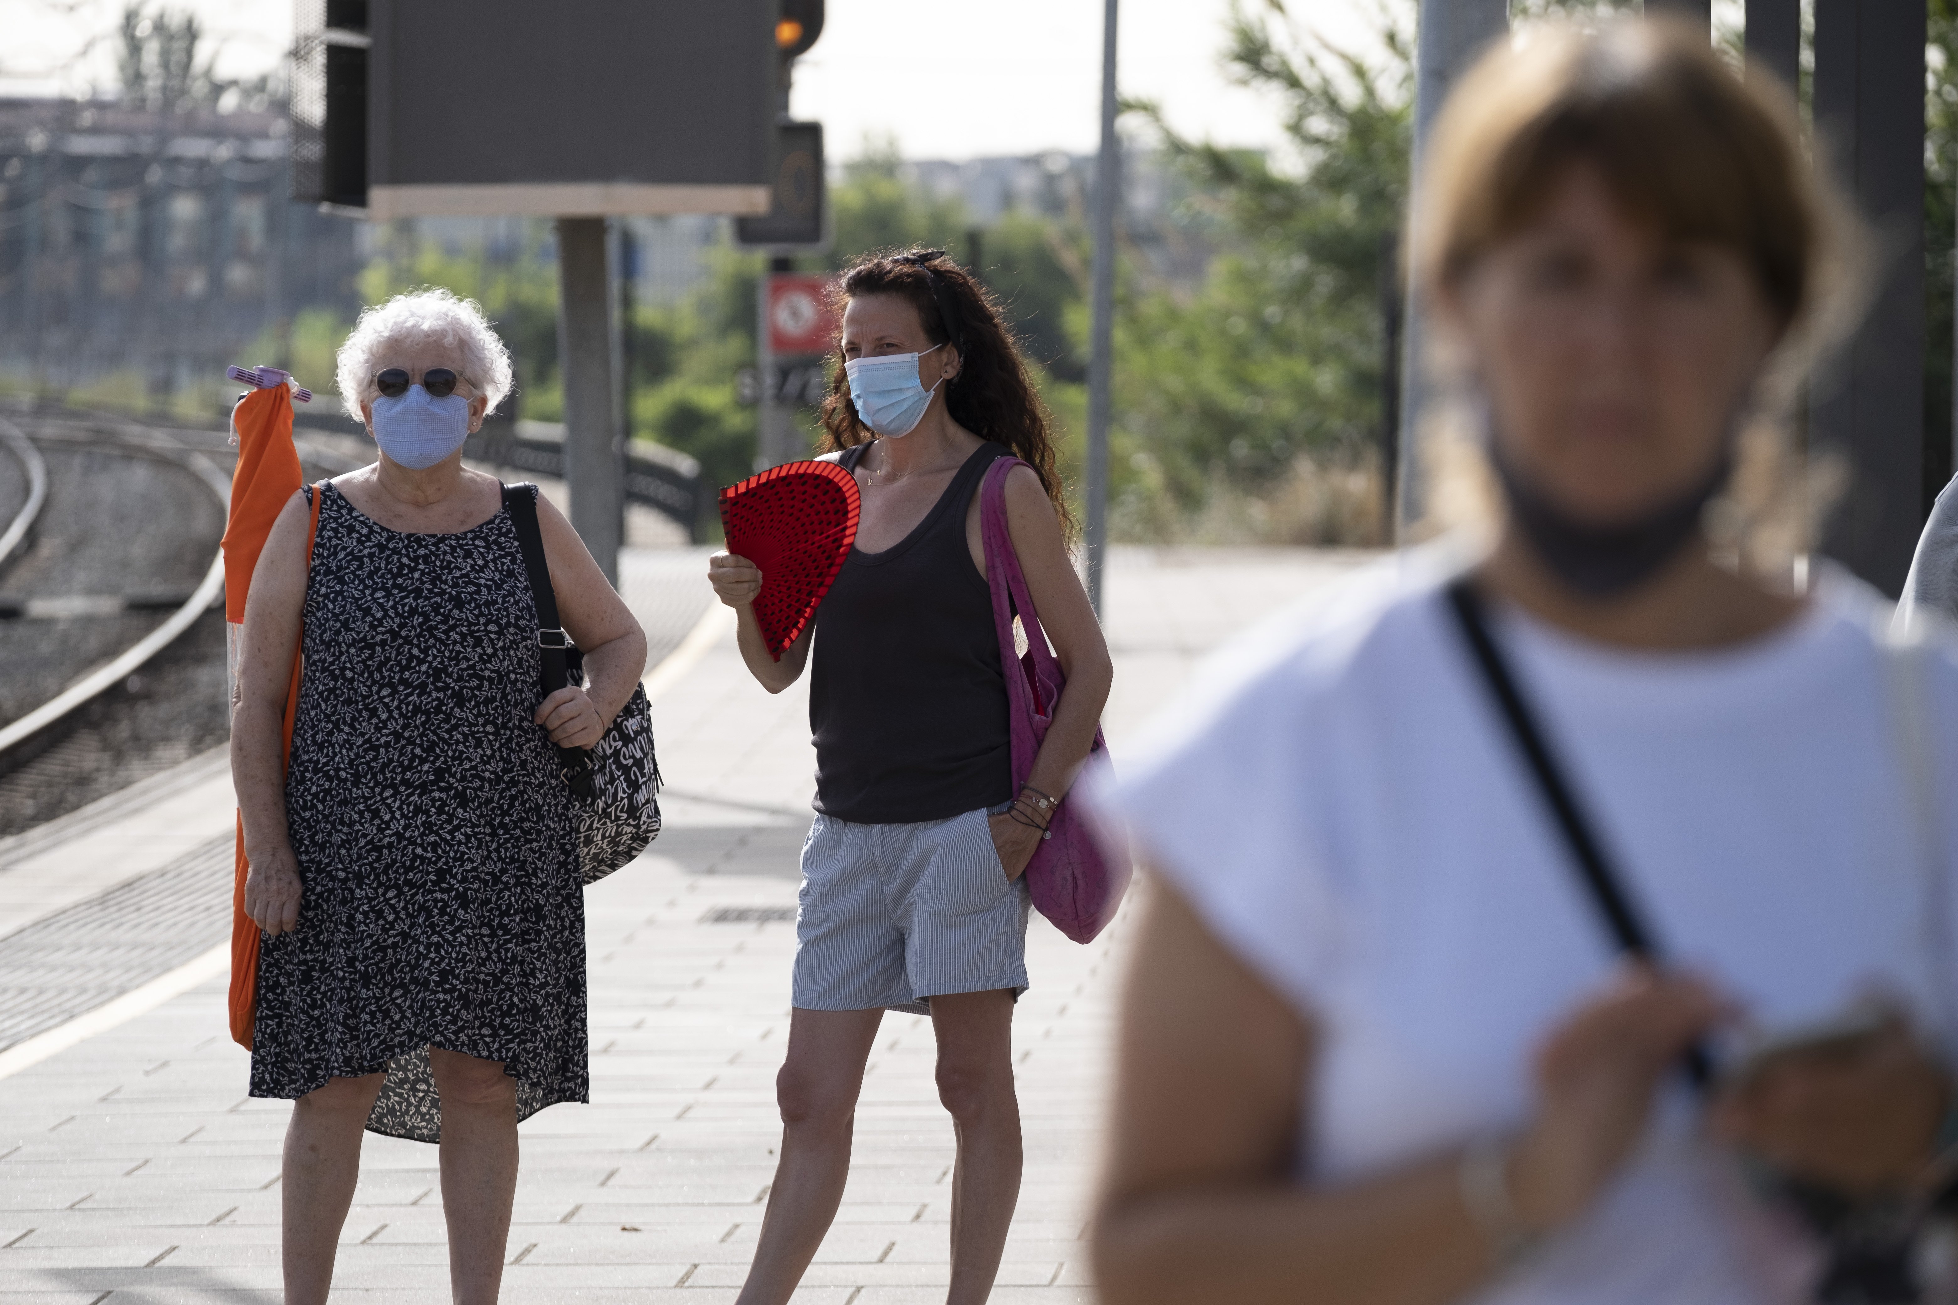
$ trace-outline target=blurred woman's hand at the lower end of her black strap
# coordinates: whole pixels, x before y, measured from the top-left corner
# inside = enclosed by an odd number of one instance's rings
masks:
[[[1703,982],[1633,967],[1551,1031],[1537,1051],[1537,1115],[1508,1164],[1531,1231],[1590,1205],[1645,1133],[1658,1084],[1725,1013]]]

